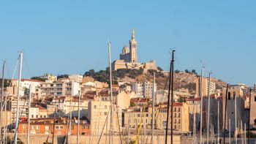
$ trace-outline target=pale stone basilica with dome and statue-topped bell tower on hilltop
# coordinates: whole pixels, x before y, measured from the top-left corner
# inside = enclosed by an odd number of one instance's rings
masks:
[[[135,40],[135,30],[132,30],[132,38],[129,40],[129,47],[124,46],[120,54],[120,60],[113,61],[112,68],[117,69],[155,69],[157,64],[155,61],[146,63],[138,62],[137,41]]]

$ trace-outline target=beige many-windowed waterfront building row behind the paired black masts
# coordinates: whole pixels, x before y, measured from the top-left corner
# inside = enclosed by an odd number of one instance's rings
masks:
[[[187,103],[174,103],[173,106],[173,129],[181,132],[189,132],[189,108]],[[166,129],[167,105],[155,106],[155,111],[155,128]],[[141,124],[142,128],[151,129],[151,113],[151,106],[145,111],[143,110],[143,106],[131,107],[124,113],[124,126],[129,125],[130,128],[137,129],[137,125]]]

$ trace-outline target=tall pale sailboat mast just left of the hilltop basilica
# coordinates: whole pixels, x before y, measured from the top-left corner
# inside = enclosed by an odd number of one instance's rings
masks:
[[[111,42],[108,42],[108,58],[109,58],[109,72],[110,72],[110,136],[112,144],[113,141],[113,91],[112,91],[112,65],[111,65]]]

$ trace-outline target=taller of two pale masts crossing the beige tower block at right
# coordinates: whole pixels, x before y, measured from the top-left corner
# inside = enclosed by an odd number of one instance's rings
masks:
[[[203,143],[202,131],[203,131],[203,69],[204,68],[205,67],[202,64],[201,77],[200,77],[200,96],[201,96],[201,103],[200,103],[200,144]]]

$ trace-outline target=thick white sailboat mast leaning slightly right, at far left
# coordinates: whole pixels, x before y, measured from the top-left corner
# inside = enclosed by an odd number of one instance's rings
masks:
[[[21,80],[21,70],[22,70],[22,59],[23,59],[23,52],[20,52],[20,67],[19,67],[19,77],[18,77],[18,97],[17,97],[17,112],[16,112],[16,122],[15,122],[15,137],[14,143],[17,144],[18,140],[18,121],[19,121],[19,113],[20,113],[20,80]]]

